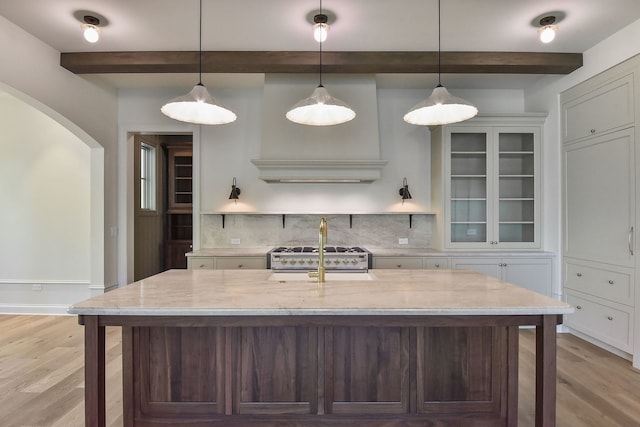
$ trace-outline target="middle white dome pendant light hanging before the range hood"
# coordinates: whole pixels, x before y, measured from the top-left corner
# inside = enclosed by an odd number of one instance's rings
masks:
[[[322,0],[320,0],[322,15]],[[287,119],[294,123],[311,126],[329,126],[346,123],[356,116],[347,104],[334,98],[322,85],[322,41],[320,44],[320,84],[309,98],[305,98],[291,107]]]

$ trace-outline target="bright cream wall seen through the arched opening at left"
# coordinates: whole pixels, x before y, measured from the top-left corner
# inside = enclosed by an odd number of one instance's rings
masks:
[[[0,311],[64,311],[90,296],[90,149],[11,95],[0,117]]]

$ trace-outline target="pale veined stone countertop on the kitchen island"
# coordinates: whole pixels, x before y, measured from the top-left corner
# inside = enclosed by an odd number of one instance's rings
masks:
[[[527,315],[566,314],[565,302],[466,270],[370,270],[373,280],[320,286],[300,273],[170,270],[74,304],[78,315]],[[335,276],[334,276],[335,277]],[[344,276],[343,276],[344,277]]]

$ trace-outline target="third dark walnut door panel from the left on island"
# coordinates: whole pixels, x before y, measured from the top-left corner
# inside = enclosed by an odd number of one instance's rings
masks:
[[[325,412],[409,413],[409,337],[403,327],[326,328]]]

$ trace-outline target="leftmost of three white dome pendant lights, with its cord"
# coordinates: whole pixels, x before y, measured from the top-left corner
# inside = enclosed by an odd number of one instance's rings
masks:
[[[236,120],[236,115],[209,94],[202,84],[202,0],[200,0],[199,81],[191,92],[172,99],[160,111],[172,119],[198,125],[221,125]]]

